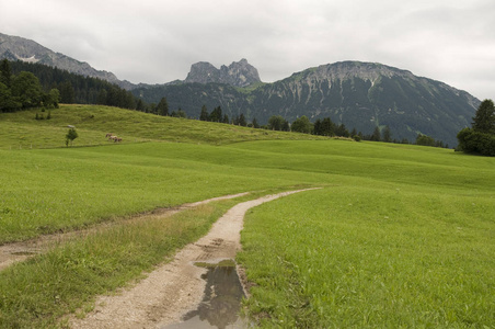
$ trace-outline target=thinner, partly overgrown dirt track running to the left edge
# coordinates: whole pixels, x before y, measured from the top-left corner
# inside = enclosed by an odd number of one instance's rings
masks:
[[[195,202],[195,203],[183,204],[179,207],[157,208],[150,213],[139,214],[139,215],[133,216],[126,220],[139,220],[141,218],[149,218],[150,216],[170,216],[177,212],[181,212],[181,211],[184,211],[187,208],[192,208],[192,207],[198,206],[200,204],[206,204],[206,203],[209,203],[212,201],[218,201],[218,200],[234,198],[234,197],[242,196],[245,194],[248,194],[248,193],[239,193],[239,194],[208,198],[208,200],[204,200],[204,201],[199,201],[199,202]],[[0,271],[7,269],[8,266],[10,266],[11,264],[13,264],[15,262],[24,261],[30,257],[33,257],[37,253],[42,253],[54,245],[57,245],[57,243],[60,243],[64,241],[68,241],[69,239],[74,238],[74,237],[85,236],[88,234],[94,232],[100,229],[105,229],[116,223],[122,223],[122,222],[102,223],[100,225],[95,225],[95,226],[93,226],[89,229],[84,229],[84,230],[69,231],[69,232],[65,232],[65,234],[46,235],[46,236],[42,236],[42,237],[31,239],[27,241],[13,242],[13,243],[7,243],[3,246],[0,246]]]

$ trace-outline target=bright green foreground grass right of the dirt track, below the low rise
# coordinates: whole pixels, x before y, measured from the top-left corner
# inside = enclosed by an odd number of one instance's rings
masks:
[[[492,328],[494,203],[401,185],[260,206],[239,256],[249,314],[265,328]]]

